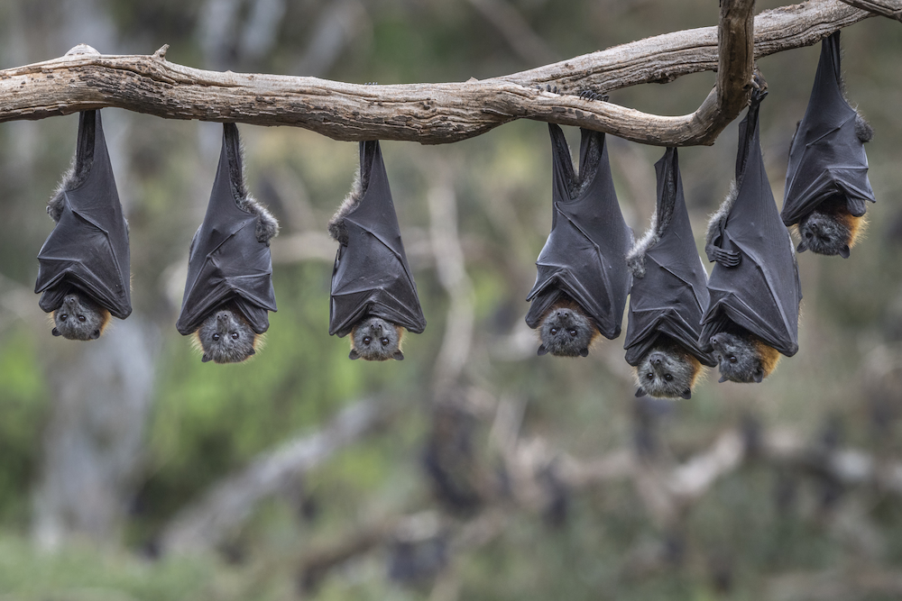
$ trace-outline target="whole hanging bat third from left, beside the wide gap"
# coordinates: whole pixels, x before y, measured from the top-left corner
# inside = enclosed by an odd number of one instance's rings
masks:
[[[426,318],[400,238],[379,141],[360,142],[360,172],[328,229],[339,242],[329,334],[352,334],[352,360],[403,360],[403,329],[419,334],[426,329]]]

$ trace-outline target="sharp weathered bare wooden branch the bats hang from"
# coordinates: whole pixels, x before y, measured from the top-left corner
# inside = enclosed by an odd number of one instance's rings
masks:
[[[66,56],[0,71],[0,122],[117,106],[167,119],[293,125],[344,141],[447,143],[515,119],[534,119],[647,144],[711,144],[744,106],[749,90],[744,76],[751,69],[753,2],[722,4],[720,36],[717,27],[668,33],[463,83],[361,86],[316,77],[219,73],[171,63],[161,51],[154,56]],[[870,16],[840,0],[810,0],[764,12],[754,20],[754,56],[814,44]],[[693,114],[645,114],[575,96],[585,89],[664,83],[714,68],[720,90]],[[537,89],[546,85],[566,96]]]

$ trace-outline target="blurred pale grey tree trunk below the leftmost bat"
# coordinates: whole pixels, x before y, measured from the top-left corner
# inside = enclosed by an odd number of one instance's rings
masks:
[[[142,464],[159,338],[133,314],[97,341],[48,345],[54,406],[33,524],[41,548],[72,537],[117,542]]]

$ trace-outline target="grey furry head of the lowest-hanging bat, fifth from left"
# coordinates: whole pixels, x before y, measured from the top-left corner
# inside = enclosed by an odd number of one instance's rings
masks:
[[[656,344],[636,366],[636,396],[691,398],[702,364],[676,345]]]

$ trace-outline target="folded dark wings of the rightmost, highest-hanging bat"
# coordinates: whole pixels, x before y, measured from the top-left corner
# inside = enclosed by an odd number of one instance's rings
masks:
[[[821,43],[815,85],[789,150],[783,223],[798,223],[832,196],[844,197],[849,213],[859,217],[865,201],[875,202],[856,115],[842,96],[840,34],[835,32]]]

